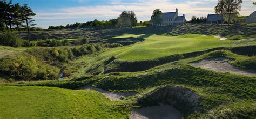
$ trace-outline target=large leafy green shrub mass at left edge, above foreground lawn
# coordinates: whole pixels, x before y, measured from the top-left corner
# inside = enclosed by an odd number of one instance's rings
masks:
[[[46,80],[57,79],[59,69],[44,65],[33,56],[18,56],[14,59],[4,59],[0,63],[3,75],[16,80]]]

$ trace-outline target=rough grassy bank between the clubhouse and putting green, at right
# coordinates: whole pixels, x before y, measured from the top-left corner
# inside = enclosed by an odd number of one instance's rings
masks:
[[[246,38],[254,38],[256,34],[255,25],[220,25],[220,24],[187,24],[173,29],[170,34],[204,34],[204,35],[220,35],[230,40],[239,40]]]

